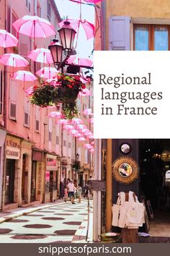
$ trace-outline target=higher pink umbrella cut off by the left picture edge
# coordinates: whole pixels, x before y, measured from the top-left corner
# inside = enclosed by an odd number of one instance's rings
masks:
[[[18,40],[11,33],[6,30],[0,30],[0,46],[4,48],[17,46]]]

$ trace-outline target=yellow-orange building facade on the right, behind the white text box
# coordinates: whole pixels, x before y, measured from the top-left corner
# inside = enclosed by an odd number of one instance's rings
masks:
[[[169,51],[169,1],[110,0],[103,1],[98,9],[98,17],[102,17],[102,33],[97,31],[95,50]],[[130,145],[128,156],[140,166],[138,180],[130,185],[121,185],[112,178],[112,162],[124,156],[120,150],[123,144]],[[112,203],[116,202],[120,191],[131,190],[138,197],[144,194],[151,200],[154,210],[166,208],[166,198],[161,195],[160,189],[161,177],[165,178],[169,170],[170,148],[169,140],[155,139],[99,140],[96,145],[94,176],[105,180],[107,188],[106,192],[94,192],[97,201],[94,202],[94,241],[98,240],[99,234],[113,230]],[[164,203],[160,202],[163,197]]]

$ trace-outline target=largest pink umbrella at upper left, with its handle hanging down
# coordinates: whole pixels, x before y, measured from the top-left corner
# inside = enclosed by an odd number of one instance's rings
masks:
[[[35,38],[48,38],[50,35],[55,35],[53,25],[48,20],[37,16],[25,15],[12,25],[18,34],[22,33],[34,38],[34,45]]]

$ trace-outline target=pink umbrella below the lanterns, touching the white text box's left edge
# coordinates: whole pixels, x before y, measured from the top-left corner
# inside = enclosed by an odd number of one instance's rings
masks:
[[[68,64],[79,65],[81,67],[93,67],[93,61],[91,59],[79,58],[78,55],[71,55],[67,59]]]

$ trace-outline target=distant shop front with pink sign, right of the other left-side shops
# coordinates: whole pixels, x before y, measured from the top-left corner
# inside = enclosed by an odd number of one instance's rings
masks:
[[[56,155],[47,154],[45,171],[45,202],[55,202],[58,198],[60,162]]]

